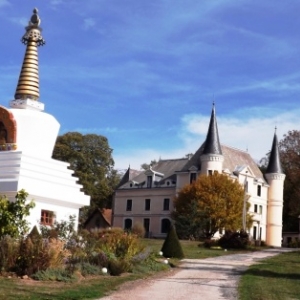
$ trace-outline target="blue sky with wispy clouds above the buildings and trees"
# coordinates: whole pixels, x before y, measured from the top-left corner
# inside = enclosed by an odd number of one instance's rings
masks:
[[[300,1],[0,0],[0,105],[39,9],[40,101],[69,131],[108,138],[117,169],[184,157],[216,103],[221,143],[270,150],[299,130]]]

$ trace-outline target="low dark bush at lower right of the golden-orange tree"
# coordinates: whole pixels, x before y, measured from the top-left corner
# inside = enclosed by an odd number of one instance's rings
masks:
[[[223,249],[246,249],[250,242],[247,232],[226,231],[218,243]]]

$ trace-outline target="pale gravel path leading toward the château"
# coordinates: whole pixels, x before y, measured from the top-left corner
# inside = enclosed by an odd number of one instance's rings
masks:
[[[184,259],[164,276],[128,282],[101,300],[237,299],[242,271],[257,261],[291,249],[268,249],[206,259]]]

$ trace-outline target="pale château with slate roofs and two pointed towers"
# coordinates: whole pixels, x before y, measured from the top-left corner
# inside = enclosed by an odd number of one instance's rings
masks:
[[[280,165],[276,132],[264,176],[248,152],[220,143],[214,105],[206,140],[195,154],[159,160],[136,177],[123,177],[115,191],[113,226],[128,229],[139,222],[150,236],[165,237],[178,191],[200,174],[213,172],[227,174],[244,186],[249,196],[249,212],[254,219],[250,228],[253,239],[281,246],[285,175]]]

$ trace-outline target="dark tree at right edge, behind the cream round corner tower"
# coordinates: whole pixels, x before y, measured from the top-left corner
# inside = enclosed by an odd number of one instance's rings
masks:
[[[298,230],[300,215],[300,131],[291,130],[279,142],[284,181],[283,230]]]

